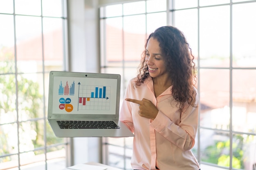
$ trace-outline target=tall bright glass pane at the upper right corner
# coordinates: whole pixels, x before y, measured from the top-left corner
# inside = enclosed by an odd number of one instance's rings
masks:
[[[256,67],[256,22],[249,22],[255,9],[256,3],[233,5],[233,67]]]

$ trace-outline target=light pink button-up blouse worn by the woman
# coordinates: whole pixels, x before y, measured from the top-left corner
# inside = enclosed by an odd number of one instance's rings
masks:
[[[186,105],[180,113],[171,94],[171,87],[155,98],[152,78],[144,84],[134,86],[130,80],[124,98],[142,100],[146,98],[157,107],[155,120],[139,116],[139,105],[123,101],[119,120],[135,135],[131,165],[133,169],[155,170],[199,170],[200,166],[191,152],[198,128],[198,107]],[[198,93],[195,91],[195,105]]]

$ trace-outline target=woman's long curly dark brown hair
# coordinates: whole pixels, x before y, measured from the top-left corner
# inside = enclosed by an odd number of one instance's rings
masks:
[[[179,103],[180,111],[182,112],[186,103],[196,107],[194,105],[195,94],[193,90],[197,80],[196,66],[193,61],[194,56],[184,34],[173,26],[162,26],[149,35],[141,56],[135,87],[144,83],[149,76],[145,58],[146,46],[151,37],[159,42],[166,70],[169,72],[173,85],[171,89],[172,95]]]

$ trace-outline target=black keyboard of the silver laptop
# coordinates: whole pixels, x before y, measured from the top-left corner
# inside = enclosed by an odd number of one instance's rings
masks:
[[[114,121],[57,120],[61,129],[119,129]]]

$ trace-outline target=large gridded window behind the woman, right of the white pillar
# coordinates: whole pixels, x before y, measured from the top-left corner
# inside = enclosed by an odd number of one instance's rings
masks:
[[[186,35],[198,68],[192,151],[202,169],[252,170],[256,163],[254,9],[255,0],[141,0],[100,8],[101,72],[121,74],[121,98],[149,33],[168,24]],[[131,137],[104,138],[103,146],[104,163],[131,169]]]

